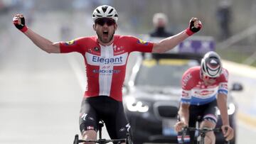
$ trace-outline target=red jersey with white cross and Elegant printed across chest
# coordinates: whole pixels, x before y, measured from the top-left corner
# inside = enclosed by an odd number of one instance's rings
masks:
[[[151,52],[153,43],[132,36],[114,35],[111,45],[100,45],[97,37],[83,37],[60,43],[60,52],[80,52],[85,59],[85,97],[110,96],[122,101],[122,85],[130,52]]]

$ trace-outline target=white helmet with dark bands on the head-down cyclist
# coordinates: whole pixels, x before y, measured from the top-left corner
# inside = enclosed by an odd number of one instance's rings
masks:
[[[222,71],[222,63],[218,53],[210,51],[201,60],[201,71],[208,77],[219,77]]]

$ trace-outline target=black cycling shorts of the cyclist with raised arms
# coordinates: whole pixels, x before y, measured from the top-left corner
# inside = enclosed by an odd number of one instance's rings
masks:
[[[112,139],[126,138],[131,135],[131,128],[124,114],[121,101],[109,96],[84,98],[80,110],[80,131],[98,130],[99,121],[104,121],[107,132]]]

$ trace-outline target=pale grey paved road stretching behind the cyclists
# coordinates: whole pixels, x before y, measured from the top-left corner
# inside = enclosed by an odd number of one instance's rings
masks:
[[[65,17],[47,14],[31,28],[57,41],[58,26]],[[78,22],[80,15],[72,18]],[[90,25],[87,21],[72,23],[74,38],[83,32],[93,33],[86,23]],[[76,53],[48,54],[14,28],[9,32],[13,43],[1,48],[0,54],[0,143],[73,143],[73,136],[79,133],[78,115],[85,88],[82,57]],[[252,127],[239,120],[238,126],[239,144],[256,141]]]

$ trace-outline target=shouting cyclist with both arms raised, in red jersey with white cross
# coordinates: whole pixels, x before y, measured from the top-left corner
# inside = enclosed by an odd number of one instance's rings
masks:
[[[129,35],[115,35],[117,11],[112,6],[98,6],[92,13],[95,36],[56,42],[38,35],[25,24],[22,14],[14,16],[14,25],[38,48],[48,53],[80,52],[85,59],[87,87],[80,110],[83,140],[96,140],[97,123],[105,121],[112,139],[126,138],[130,126],[122,105],[122,84],[130,52],[166,52],[201,29],[201,21],[191,18],[188,28],[159,43],[145,42]]]

